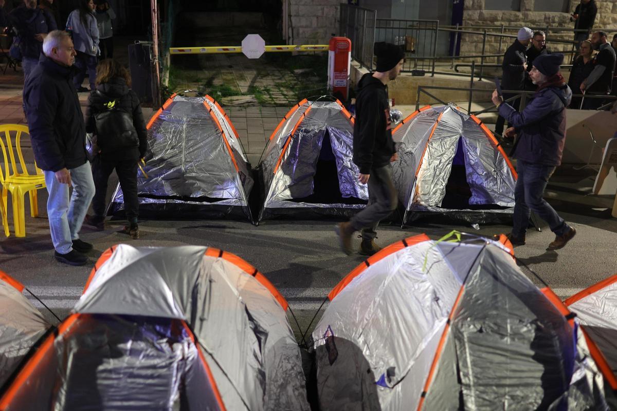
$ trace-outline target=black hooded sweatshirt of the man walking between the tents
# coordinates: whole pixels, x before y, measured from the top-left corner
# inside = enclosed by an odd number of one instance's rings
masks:
[[[370,174],[388,165],[395,152],[386,85],[366,73],[355,100],[354,163],[361,174]]]

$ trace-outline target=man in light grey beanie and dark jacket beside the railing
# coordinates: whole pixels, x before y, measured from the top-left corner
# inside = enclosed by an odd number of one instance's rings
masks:
[[[525,54],[531,38],[534,32],[529,27],[523,27],[518,31],[516,40],[503,54],[503,76],[502,76],[502,89],[503,90],[524,90],[525,77],[527,73],[527,55]],[[514,97],[515,94],[504,93],[503,99],[507,100]],[[512,107],[518,110],[520,99],[516,99],[510,102]],[[502,116],[497,117],[495,123],[495,134],[501,136],[503,134],[503,123],[505,123]],[[510,124],[508,124],[508,127]]]

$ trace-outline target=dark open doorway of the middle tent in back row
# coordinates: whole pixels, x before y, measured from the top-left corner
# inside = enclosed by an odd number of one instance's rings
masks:
[[[289,198],[288,201],[316,204],[366,204],[365,200],[347,195],[344,193],[345,190],[341,189],[337,158],[334,155],[329,128],[324,130],[320,146],[319,155],[313,169],[312,193],[305,197],[292,195],[292,198]],[[292,188],[293,185],[289,185],[289,189],[292,190]]]

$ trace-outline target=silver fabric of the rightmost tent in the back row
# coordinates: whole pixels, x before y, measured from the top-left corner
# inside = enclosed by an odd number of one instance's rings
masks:
[[[471,116],[452,104],[412,116],[392,136],[399,153],[399,161],[393,163],[394,183],[406,215],[413,211],[455,211],[442,208],[442,200],[459,139],[471,189],[470,205],[494,204],[510,209],[491,212],[512,212],[515,178],[494,142]]]

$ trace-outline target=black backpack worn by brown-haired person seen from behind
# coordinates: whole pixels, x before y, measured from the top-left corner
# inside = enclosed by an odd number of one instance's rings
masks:
[[[94,115],[96,124],[96,145],[102,152],[114,152],[139,147],[139,136],[133,125],[133,113],[118,107],[119,99],[107,97],[101,91],[99,96],[107,100],[104,109]]]

